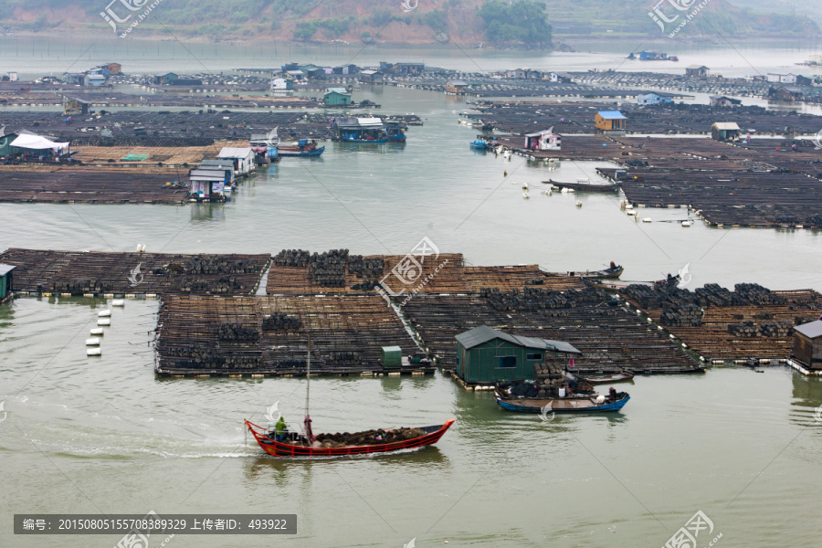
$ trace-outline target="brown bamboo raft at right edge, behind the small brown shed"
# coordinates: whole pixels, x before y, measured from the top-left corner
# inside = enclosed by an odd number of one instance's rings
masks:
[[[621,292],[625,294],[625,291]],[[704,315],[700,326],[667,326],[666,329],[708,362],[787,360],[794,344],[792,330],[784,336],[765,336],[760,332],[762,326],[775,322],[794,325],[816,320],[822,311],[822,295],[815,290],[773,291],[773,294],[785,302],[705,305],[701,307]],[[653,321],[659,322],[663,309],[649,309],[642,307],[638,300],[629,297],[628,300]],[[733,334],[729,329],[729,326],[746,325],[747,322],[752,322],[754,329],[747,330],[749,333],[745,336]]]

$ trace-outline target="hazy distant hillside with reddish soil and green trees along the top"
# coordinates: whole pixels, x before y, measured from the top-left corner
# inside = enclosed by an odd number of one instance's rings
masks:
[[[779,1],[779,0],[777,0]],[[15,32],[47,34],[121,33],[151,7],[129,37],[206,41],[302,40],[407,45],[457,44],[490,47],[551,47],[574,37],[663,38],[648,16],[655,0],[3,0],[0,25]],[[680,15],[672,5],[700,0],[668,0],[659,10]],[[816,37],[817,23],[801,13],[753,11],[733,0],[710,0],[677,35],[722,37]],[[780,7],[782,5],[779,5]],[[107,22],[100,12],[109,9]],[[130,9],[133,8],[132,9]],[[664,32],[663,32],[664,30]]]

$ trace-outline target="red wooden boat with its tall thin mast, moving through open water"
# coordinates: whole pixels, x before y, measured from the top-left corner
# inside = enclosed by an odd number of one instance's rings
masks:
[[[264,428],[246,420],[246,427],[257,440],[259,447],[274,457],[346,457],[369,453],[391,453],[402,449],[421,448],[435,444],[454,424],[449,418],[445,424],[433,427],[392,428],[368,430],[354,434],[319,434],[311,432],[309,415],[309,389],[311,387],[311,334],[308,337],[308,360],[305,372],[304,434],[296,432],[278,434],[275,428]]]

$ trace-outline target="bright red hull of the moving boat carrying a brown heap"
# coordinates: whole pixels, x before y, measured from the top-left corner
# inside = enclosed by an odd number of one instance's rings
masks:
[[[448,428],[451,427],[452,424],[454,424],[454,419],[449,418],[444,425],[421,427],[419,429],[426,432],[425,436],[395,441],[393,443],[346,446],[342,448],[313,448],[305,445],[292,445],[287,442],[277,441],[274,438],[273,432],[248,422],[248,420],[246,421],[246,427],[248,427],[248,430],[251,431],[251,434],[257,440],[259,447],[274,457],[347,457],[351,455],[390,453],[402,449],[421,448],[437,443],[439,438],[448,431]]]

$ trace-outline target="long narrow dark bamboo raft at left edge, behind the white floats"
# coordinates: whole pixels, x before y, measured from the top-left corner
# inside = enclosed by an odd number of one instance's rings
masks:
[[[269,255],[107,253],[18,248],[7,249],[0,254],[0,263],[16,266],[16,291],[97,297],[165,292],[253,294],[269,260]]]

